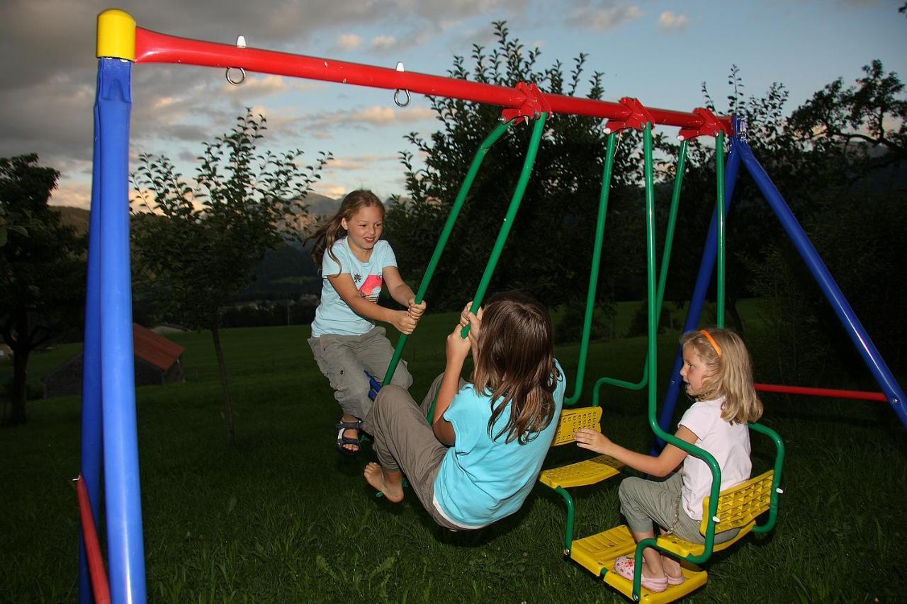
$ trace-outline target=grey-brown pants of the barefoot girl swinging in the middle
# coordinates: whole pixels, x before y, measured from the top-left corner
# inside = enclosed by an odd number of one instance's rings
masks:
[[[375,398],[375,404],[362,427],[375,439],[372,449],[381,467],[392,472],[404,472],[415,496],[432,520],[445,529],[462,531],[462,527],[448,521],[434,507],[434,479],[447,447],[435,438],[425,416],[441,387],[442,377],[444,374],[434,380],[421,407],[415,405],[413,397],[403,388],[385,385]],[[465,382],[461,378],[460,387],[463,384]]]

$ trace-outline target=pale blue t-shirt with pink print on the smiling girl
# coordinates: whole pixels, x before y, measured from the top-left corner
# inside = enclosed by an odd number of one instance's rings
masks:
[[[367,262],[363,262],[349,248],[346,237],[337,239],[331,249],[340,263],[337,264],[325,251],[325,258],[321,260],[321,303],[315,309],[312,337],[325,334],[361,336],[374,327],[375,323],[356,315],[327,277],[347,273],[353,278],[360,297],[377,302],[381,286],[385,282],[385,268],[396,266],[394,250],[384,239],[378,239],[372,248],[372,255]]]

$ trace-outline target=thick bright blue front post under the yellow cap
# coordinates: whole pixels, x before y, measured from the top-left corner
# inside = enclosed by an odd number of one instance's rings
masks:
[[[114,602],[144,602],[139,446],[132,348],[129,118],[132,63],[99,59],[101,375],[107,552]]]

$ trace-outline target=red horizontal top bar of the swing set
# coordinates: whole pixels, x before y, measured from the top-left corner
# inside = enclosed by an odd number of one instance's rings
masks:
[[[348,83],[388,90],[408,90],[410,93],[444,96],[463,101],[487,102],[504,107],[522,107],[526,97],[515,88],[493,84],[457,80],[439,75],[416,72],[398,72],[388,67],[375,67],[361,63],[346,63],[302,54],[278,53],[258,48],[240,48],[229,44],[203,42],[190,38],[159,34],[141,27],[135,33],[135,63],[187,63],[204,67],[242,67],[250,72],[274,73]],[[619,102],[580,99],[561,94],[543,94],[551,111],[587,115],[610,120],[623,120],[629,109]],[[647,107],[656,124],[698,128],[703,120],[693,112],[675,112]],[[727,116],[718,118],[731,133]]]

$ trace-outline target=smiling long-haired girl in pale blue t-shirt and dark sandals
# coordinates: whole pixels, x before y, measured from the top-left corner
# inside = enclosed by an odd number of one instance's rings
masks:
[[[384,219],[385,206],[372,191],[354,190],[312,238],[312,258],[320,267],[322,287],[308,346],[343,409],[335,426],[340,453],[359,452],[361,419],[372,407],[364,370],[382,380],[394,356],[385,328],[375,326],[375,321],[390,323],[408,335],[425,312],[425,303],[415,304],[413,290],[400,277],[394,250],[381,239]],[[406,310],[378,306],[385,284]],[[405,362],[397,365],[391,384],[403,388],[413,384]]]

